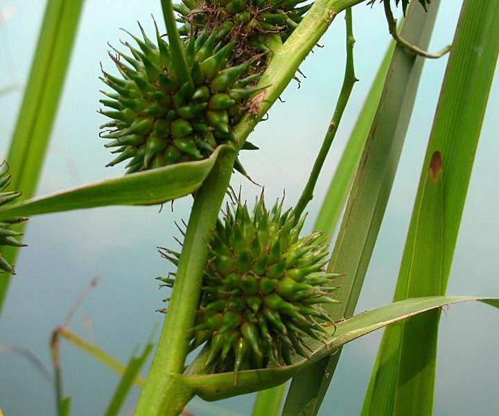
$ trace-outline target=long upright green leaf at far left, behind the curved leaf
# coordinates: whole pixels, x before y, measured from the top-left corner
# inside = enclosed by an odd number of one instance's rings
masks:
[[[12,189],[23,191],[21,199],[33,196],[37,187],[82,4],[83,0],[49,0],[46,6],[42,31],[8,154]],[[19,230],[23,228],[23,225],[18,226]],[[14,263],[16,255],[17,248],[3,250],[3,256],[10,264]],[[0,313],[9,283],[10,275],[2,275]]]

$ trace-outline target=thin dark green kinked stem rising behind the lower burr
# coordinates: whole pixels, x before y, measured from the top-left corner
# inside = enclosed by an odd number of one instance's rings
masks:
[[[347,26],[347,64],[345,66],[343,85],[340,92],[340,97],[338,98],[338,102],[336,103],[333,118],[331,119],[331,123],[329,124],[329,128],[326,133],[326,137],[324,137],[324,141],[322,142],[322,146],[319,150],[319,155],[317,155],[317,159],[315,159],[315,163],[312,171],[310,172],[308,182],[303,192],[301,193],[301,196],[297,202],[297,206],[295,207],[294,212],[297,220],[299,220],[301,214],[303,214],[303,211],[308,205],[308,202],[310,202],[313,198],[315,184],[317,184],[319,173],[322,170],[322,166],[324,166],[324,162],[326,161],[329,149],[331,148],[333,139],[335,138],[336,132],[338,131],[338,125],[340,125],[344,109],[345,107],[347,107],[347,103],[353,89],[353,84],[358,81],[355,76],[355,69],[353,67],[353,44],[355,44],[355,38],[353,37],[351,8],[348,8],[346,10],[345,21]]]

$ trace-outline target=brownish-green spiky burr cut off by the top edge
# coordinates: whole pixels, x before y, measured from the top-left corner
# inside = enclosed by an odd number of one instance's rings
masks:
[[[181,33],[196,33],[204,27],[218,32],[220,39],[237,42],[236,56],[266,51],[265,37],[278,34],[282,40],[299,24],[312,6],[305,0],[182,0],[174,5],[185,24]]]

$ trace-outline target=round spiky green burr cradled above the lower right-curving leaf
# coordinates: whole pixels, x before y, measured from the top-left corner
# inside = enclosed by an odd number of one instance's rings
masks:
[[[290,365],[307,356],[307,337],[322,340],[331,320],[321,305],[338,302],[327,247],[320,233],[300,237],[304,218],[279,201],[268,211],[260,198],[249,214],[239,200],[224,217],[209,236],[191,347],[207,343],[208,372]]]

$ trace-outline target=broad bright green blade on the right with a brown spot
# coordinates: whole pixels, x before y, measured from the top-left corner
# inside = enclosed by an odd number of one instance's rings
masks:
[[[446,291],[498,53],[499,3],[464,1],[394,300]],[[363,415],[432,413],[438,318],[385,331]]]

